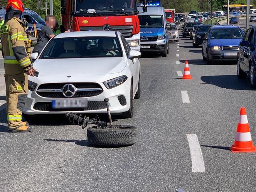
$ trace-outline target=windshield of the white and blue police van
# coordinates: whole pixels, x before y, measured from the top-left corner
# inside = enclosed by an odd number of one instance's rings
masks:
[[[139,15],[140,27],[163,27],[163,16],[162,15]]]

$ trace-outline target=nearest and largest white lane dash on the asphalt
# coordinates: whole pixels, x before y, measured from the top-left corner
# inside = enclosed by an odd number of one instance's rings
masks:
[[[205,172],[204,159],[196,134],[187,134],[190,155],[192,160],[192,172]]]

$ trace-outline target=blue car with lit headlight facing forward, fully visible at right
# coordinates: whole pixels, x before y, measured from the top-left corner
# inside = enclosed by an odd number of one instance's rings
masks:
[[[214,25],[203,38],[202,55],[207,64],[212,61],[236,61],[239,42],[244,32],[237,26]]]

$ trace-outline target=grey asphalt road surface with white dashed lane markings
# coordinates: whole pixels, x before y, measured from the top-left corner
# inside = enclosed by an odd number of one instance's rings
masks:
[[[178,76],[185,60],[193,80]],[[236,62],[207,65],[202,47],[182,37],[168,57],[140,61],[135,116],[115,121],[138,127],[133,146],[92,147],[86,130],[62,116],[35,118],[31,133],[8,133],[0,111],[0,191],[255,191],[256,153],[229,150],[243,106],[256,143],[255,90],[237,79]]]

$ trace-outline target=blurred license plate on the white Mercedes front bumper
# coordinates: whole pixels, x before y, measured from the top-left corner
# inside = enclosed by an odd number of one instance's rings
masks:
[[[68,109],[68,108],[85,108],[87,107],[87,99],[57,99],[52,100],[53,109]]]

